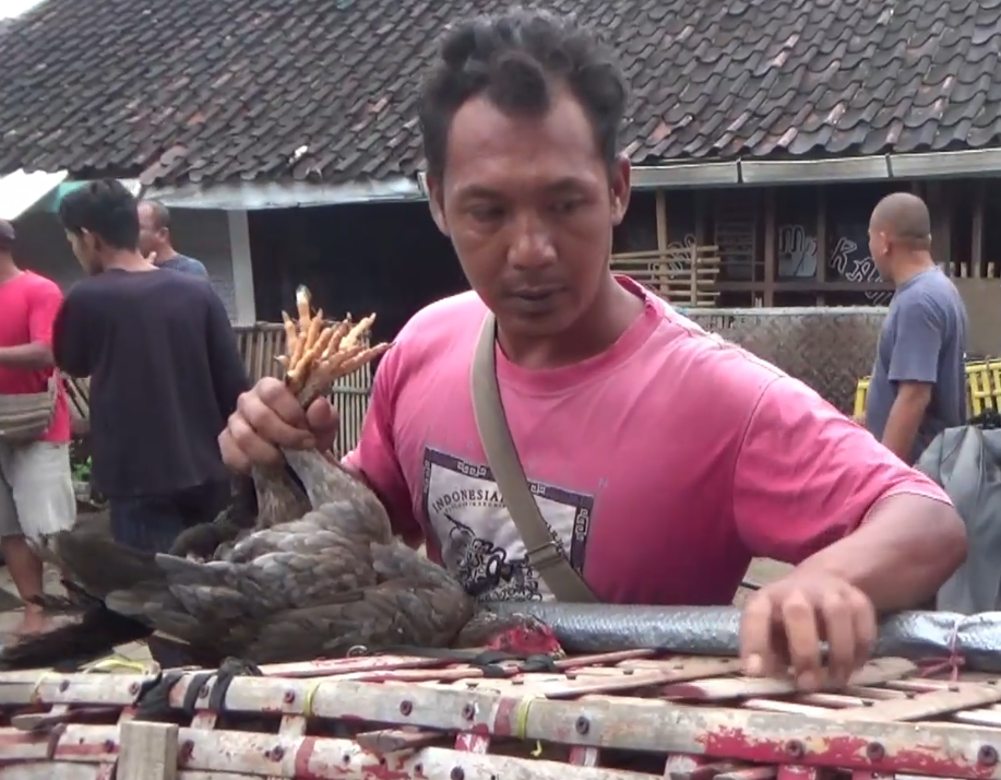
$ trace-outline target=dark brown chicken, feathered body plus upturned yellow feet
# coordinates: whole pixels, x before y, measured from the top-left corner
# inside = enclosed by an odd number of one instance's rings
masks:
[[[321,312],[310,311],[305,289],[298,304],[298,323],[286,318],[286,382],[307,405],[389,346],[362,345],[372,318],[325,326]],[[254,472],[252,525],[229,517],[206,524],[211,534],[193,529],[175,547],[182,555],[141,553],[102,534],[55,536],[52,554],[92,606],[79,624],[5,648],[0,667],[48,665],[76,651],[93,658],[111,642],[153,631],[183,645],[188,660],[203,666],[228,657],[274,663],[356,647],[487,640],[489,617],[460,638],[473,598],[393,536],[384,507],[366,485],[315,450],[285,456],[298,483],[283,470]],[[102,623],[115,630],[98,649],[95,625]]]

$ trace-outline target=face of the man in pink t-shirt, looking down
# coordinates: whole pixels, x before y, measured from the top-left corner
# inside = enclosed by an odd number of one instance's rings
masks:
[[[509,333],[551,336],[587,312],[607,279],[612,228],[629,202],[569,92],[538,118],[482,97],[456,111],[431,211],[472,287]]]

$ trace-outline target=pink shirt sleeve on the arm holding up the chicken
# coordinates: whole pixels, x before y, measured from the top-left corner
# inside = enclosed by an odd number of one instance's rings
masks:
[[[379,364],[369,407],[361,423],[361,436],[343,462],[365,476],[385,506],[394,533],[407,544],[417,545],[424,540],[424,530],[414,515],[410,491],[393,442],[394,386],[400,373],[398,358],[400,348],[396,346]]]

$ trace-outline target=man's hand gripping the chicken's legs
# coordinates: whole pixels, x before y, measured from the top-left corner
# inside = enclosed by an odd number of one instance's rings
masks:
[[[279,447],[329,450],[339,427],[329,400],[318,399],[303,410],[284,383],[265,377],[240,395],[219,434],[219,450],[227,466],[246,473],[254,464],[281,463]]]

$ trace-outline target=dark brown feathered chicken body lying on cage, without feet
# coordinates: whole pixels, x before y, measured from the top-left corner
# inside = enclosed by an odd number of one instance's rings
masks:
[[[55,540],[56,548],[108,610],[181,640],[201,659],[279,663],[358,646],[448,647],[474,600],[393,536],[367,486],[319,452],[287,456],[315,508],[223,545],[210,560],[72,534]]]

